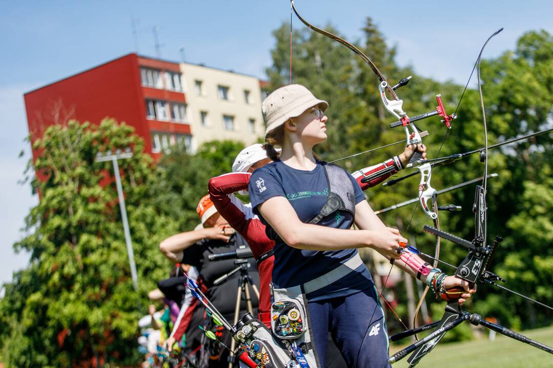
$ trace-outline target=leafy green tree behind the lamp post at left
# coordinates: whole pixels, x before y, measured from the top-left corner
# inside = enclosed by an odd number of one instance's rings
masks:
[[[131,147],[119,162],[139,291],[133,290],[111,162],[99,152]],[[103,120],[51,126],[33,142],[42,180],[40,203],[27,217],[16,250],[32,254],[29,268],[6,284],[0,301],[0,342],[7,366],[133,365],[139,358],[137,321],[147,291],[168,268],[159,241],[176,223],[153,206],[152,159],[133,128]]]

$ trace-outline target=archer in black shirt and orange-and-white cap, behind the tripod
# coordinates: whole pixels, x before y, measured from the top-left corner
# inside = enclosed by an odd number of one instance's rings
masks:
[[[227,321],[232,323],[240,273],[234,273],[221,284],[213,285],[213,282],[217,278],[236,269],[237,265],[234,264],[234,260],[232,259],[210,262],[208,256],[210,254],[229,252],[241,246],[245,246],[247,243],[242,236],[236,233],[236,231],[228,225],[227,221],[218,214],[209,195],[204,196],[204,198],[200,200],[196,211],[200,216],[201,227],[199,226],[193,231],[173,235],[162,241],[159,244],[159,248],[165,257],[169,258],[171,261],[175,263],[186,263],[197,268],[200,274],[199,279],[201,279],[201,284],[207,287],[207,297],[217,310],[223,314]],[[248,261],[249,275],[253,279],[255,285],[259,287],[259,274],[255,266],[255,260],[251,258],[248,259]],[[257,296],[255,296],[253,292],[250,292],[250,296],[252,305],[255,307],[253,315],[256,316],[259,302]],[[199,311],[196,311],[195,314],[200,313],[205,313],[203,308],[199,308]],[[244,294],[242,294],[241,313],[239,318],[242,318],[245,313],[246,300]],[[198,315],[195,317],[192,318],[189,329],[198,329]],[[228,346],[230,340],[230,334],[226,331],[222,332],[221,341]],[[187,341],[187,345],[189,345],[189,341]],[[219,349],[217,353],[219,355],[217,357],[218,359],[216,359],[218,364],[226,363],[228,351]]]

